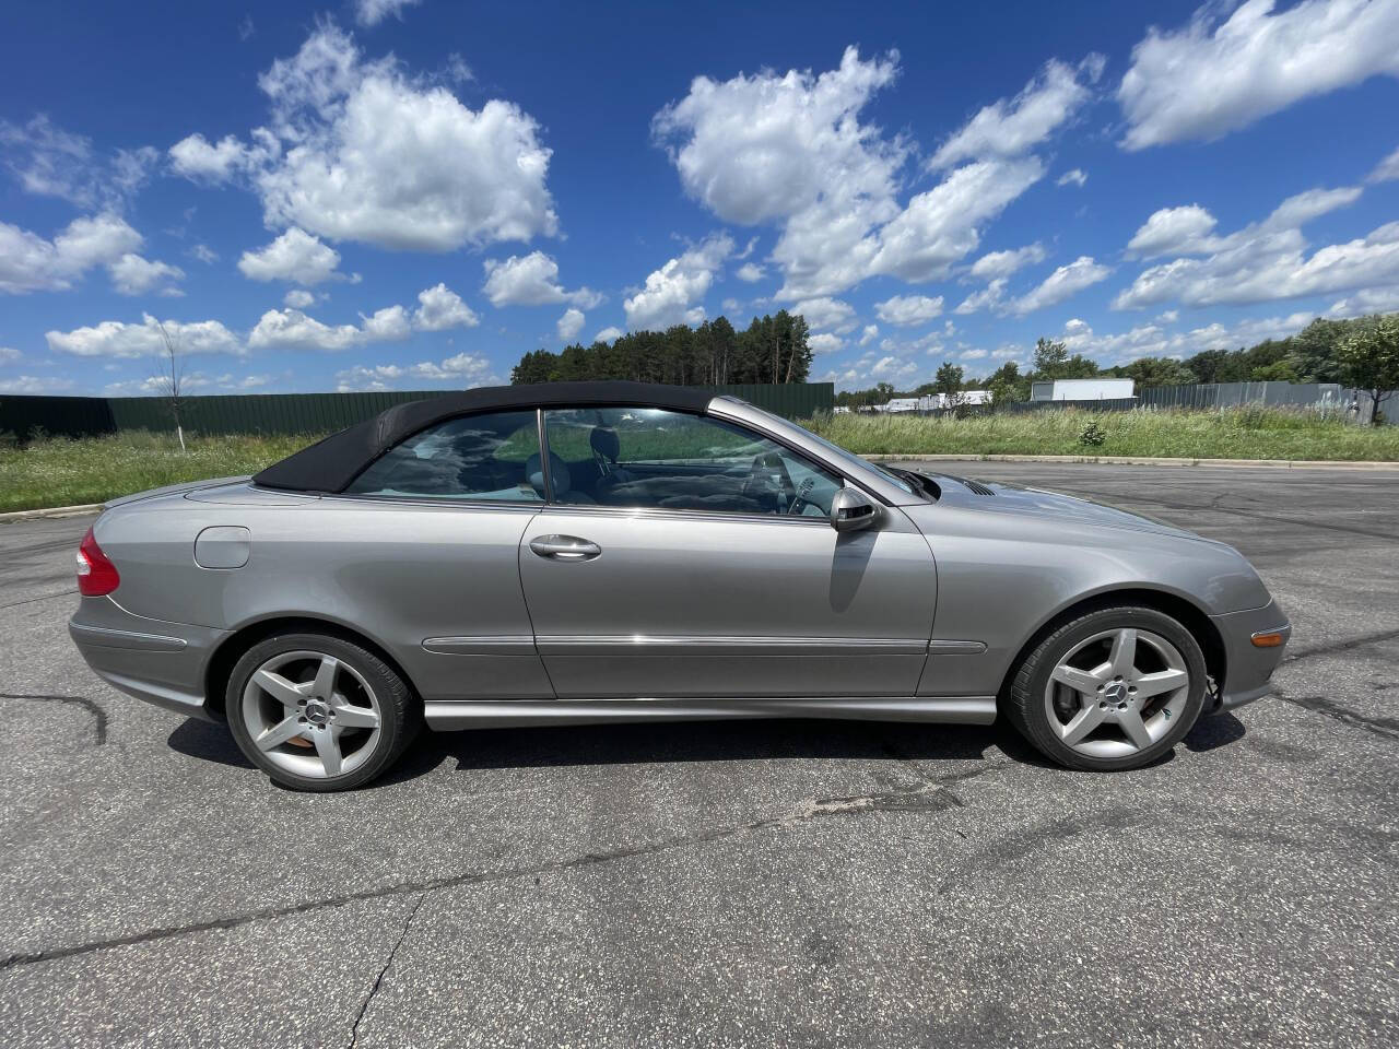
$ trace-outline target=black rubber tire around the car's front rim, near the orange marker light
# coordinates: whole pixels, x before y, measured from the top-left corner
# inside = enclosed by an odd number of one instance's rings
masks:
[[[1154,632],[1179,650],[1189,673],[1185,705],[1172,719],[1170,730],[1150,747],[1119,758],[1091,757],[1063,743],[1051,727],[1045,691],[1055,666],[1076,646],[1104,631],[1123,628]],[[1020,734],[1051,761],[1086,772],[1118,772],[1150,765],[1185,737],[1205,705],[1206,674],[1205,653],[1199,642],[1177,620],[1140,606],[1098,608],[1056,627],[1025,655],[1002,699],[1002,709]]]

